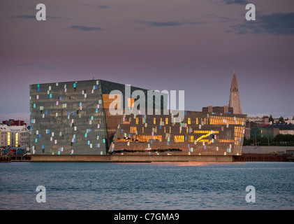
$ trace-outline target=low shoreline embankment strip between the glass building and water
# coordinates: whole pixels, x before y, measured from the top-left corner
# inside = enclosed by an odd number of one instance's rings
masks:
[[[280,154],[242,155],[25,155],[8,157],[6,162],[294,162]]]

